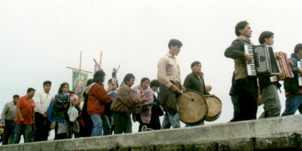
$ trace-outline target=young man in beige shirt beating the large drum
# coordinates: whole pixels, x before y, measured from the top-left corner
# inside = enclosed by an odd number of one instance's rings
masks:
[[[161,83],[159,87],[160,103],[166,111],[161,129],[180,127],[179,111],[176,105],[176,93],[185,91],[181,85],[179,64],[175,56],[178,56],[182,42],[171,39],[168,44],[169,53],[159,60],[157,79]]]

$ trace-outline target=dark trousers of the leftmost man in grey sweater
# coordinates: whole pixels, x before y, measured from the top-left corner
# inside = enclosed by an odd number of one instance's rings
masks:
[[[4,127],[4,133],[2,136],[2,145],[8,144],[9,136],[11,136],[11,141],[10,143],[13,142],[14,136],[15,136],[15,126],[16,124],[14,123],[13,120],[5,120],[5,127]]]

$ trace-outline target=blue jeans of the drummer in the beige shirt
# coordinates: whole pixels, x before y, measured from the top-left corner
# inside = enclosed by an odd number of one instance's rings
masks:
[[[179,116],[178,112],[172,116],[168,111],[166,111],[164,120],[162,121],[162,127],[161,129],[169,129],[171,126],[173,128],[178,128],[180,127],[180,121],[179,121]]]

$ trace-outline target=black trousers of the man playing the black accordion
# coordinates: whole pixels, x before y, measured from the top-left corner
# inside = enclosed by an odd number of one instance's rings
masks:
[[[236,80],[239,103],[239,121],[256,119],[258,85],[257,78],[247,77]]]

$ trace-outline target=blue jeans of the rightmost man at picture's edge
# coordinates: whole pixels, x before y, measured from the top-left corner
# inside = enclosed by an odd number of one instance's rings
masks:
[[[291,93],[285,97],[285,110],[281,116],[294,115],[297,109],[302,107],[302,94]]]

